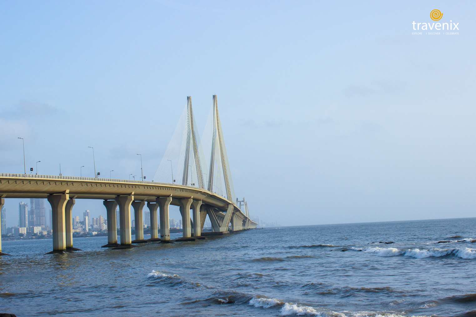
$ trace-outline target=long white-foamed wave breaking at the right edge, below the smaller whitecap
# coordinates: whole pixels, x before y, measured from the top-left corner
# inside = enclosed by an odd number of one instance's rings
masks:
[[[420,249],[397,249],[397,248],[367,248],[367,249],[357,249],[354,250],[363,250],[365,252],[375,252],[382,257],[391,257],[397,255],[403,255],[411,258],[422,259],[429,257],[445,257],[445,256],[455,256],[461,259],[476,259],[476,250],[470,248],[454,248],[454,249],[438,249],[433,248],[429,250],[420,250]]]

